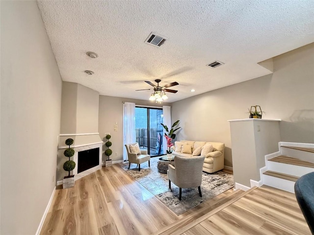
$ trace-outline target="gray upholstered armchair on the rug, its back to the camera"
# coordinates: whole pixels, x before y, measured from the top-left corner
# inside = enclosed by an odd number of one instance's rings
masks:
[[[202,197],[201,184],[203,174],[203,163],[205,156],[195,156],[190,158],[175,156],[175,163],[168,165],[169,188],[171,182],[179,187],[179,200],[182,196],[182,188],[196,188]]]

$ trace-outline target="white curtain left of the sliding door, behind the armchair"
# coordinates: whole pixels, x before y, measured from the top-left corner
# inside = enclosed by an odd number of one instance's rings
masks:
[[[127,149],[124,146],[134,143],[135,137],[135,103],[123,103],[123,160],[128,160]]]

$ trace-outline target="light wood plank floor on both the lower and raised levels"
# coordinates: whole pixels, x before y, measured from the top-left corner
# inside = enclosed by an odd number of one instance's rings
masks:
[[[58,187],[41,234],[156,234],[196,213],[195,211],[204,211],[206,207],[225,200],[234,193],[230,189],[178,216],[135,181],[119,164],[114,164],[77,180],[74,188]],[[184,231],[185,235],[252,234],[251,232],[311,234],[294,194],[269,187],[250,192]]]

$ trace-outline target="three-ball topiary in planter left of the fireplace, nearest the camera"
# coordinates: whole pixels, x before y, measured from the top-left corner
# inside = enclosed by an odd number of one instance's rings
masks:
[[[75,162],[71,160],[71,157],[74,155],[75,151],[73,148],[70,147],[71,144],[73,144],[73,139],[67,139],[65,141],[66,145],[69,145],[69,148],[67,148],[66,150],[64,150],[64,156],[68,157],[69,160],[66,161],[63,164],[63,169],[65,171],[69,171],[69,175],[65,176],[63,178],[63,188],[71,188],[74,187],[74,175],[70,175],[71,174],[71,170],[73,170],[75,168]]]

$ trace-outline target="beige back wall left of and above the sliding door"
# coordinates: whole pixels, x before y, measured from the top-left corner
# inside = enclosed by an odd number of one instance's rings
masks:
[[[110,133],[112,145],[112,155],[110,158],[112,161],[122,160],[123,156],[123,102],[132,102],[136,105],[145,105],[151,107],[171,106],[169,103],[154,103],[149,100],[128,99],[112,96],[99,96],[99,135],[104,141],[103,152],[107,149],[105,146],[105,133]],[[118,124],[117,131],[113,131],[115,122]],[[117,153],[117,155],[116,155]],[[103,162],[107,159],[107,156],[103,154]]]

